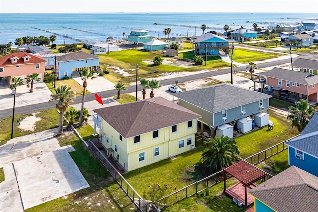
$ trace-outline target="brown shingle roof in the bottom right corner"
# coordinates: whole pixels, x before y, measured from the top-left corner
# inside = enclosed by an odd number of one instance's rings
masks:
[[[291,166],[249,191],[277,212],[314,212],[318,209],[318,177]]]

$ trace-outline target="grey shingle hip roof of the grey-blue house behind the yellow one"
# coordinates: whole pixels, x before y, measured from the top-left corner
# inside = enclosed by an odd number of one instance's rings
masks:
[[[271,97],[265,93],[247,90],[229,83],[173,93],[172,95],[212,113]]]

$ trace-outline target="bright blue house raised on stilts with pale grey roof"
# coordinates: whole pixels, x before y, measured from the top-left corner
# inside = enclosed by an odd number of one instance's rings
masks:
[[[194,40],[196,55],[218,55],[219,49],[228,52],[230,48],[229,41],[212,33],[205,33]]]

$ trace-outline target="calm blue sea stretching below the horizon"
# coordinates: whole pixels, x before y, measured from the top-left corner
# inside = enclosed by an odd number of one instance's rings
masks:
[[[147,30],[149,35],[159,38],[165,37],[165,28],[171,28],[170,36],[195,36],[202,34],[202,24],[213,27],[205,32],[222,32],[225,24],[231,29],[249,29],[254,22],[266,27],[271,23],[318,22],[310,20],[317,18],[317,13],[1,13],[0,44],[14,43],[16,38],[25,36],[49,37],[52,33],[59,34],[57,44],[77,42],[61,35],[83,41],[105,41],[109,36],[122,40],[123,33],[128,35],[133,29]]]

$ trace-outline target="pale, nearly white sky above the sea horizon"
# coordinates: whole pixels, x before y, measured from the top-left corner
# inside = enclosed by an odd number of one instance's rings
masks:
[[[0,12],[308,12],[318,18],[318,0],[0,0]]]

